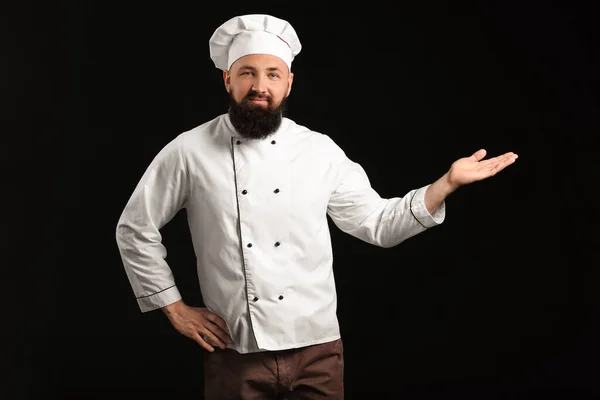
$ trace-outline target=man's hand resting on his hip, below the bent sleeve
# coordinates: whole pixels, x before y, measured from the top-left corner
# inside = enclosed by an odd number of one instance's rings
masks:
[[[203,336],[222,349],[226,344],[231,343],[225,321],[206,308],[190,307],[178,301],[163,307],[163,311],[179,333],[195,340],[210,352],[215,349],[204,340]]]

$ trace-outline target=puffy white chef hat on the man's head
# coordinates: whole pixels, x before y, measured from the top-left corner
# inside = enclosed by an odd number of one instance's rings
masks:
[[[289,22],[264,14],[231,18],[217,28],[209,41],[215,66],[229,70],[231,64],[248,54],[271,54],[291,69],[302,46]]]

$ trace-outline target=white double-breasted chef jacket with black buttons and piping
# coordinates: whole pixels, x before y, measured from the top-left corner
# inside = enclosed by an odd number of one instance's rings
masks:
[[[179,134],[154,158],[116,239],[142,312],[181,299],[159,229],[187,210],[206,307],[240,353],[340,337],[329,215],[343,232],[395,246],[443,222],[427,186],[381,198],[363,168],[327,135],[284,118],[266,139],[245,139],[220,115]]]

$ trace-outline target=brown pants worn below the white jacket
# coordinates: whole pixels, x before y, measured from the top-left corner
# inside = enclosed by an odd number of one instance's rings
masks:
[[[344,398],[342,340],[298,349],[204,352],[205,400]]]

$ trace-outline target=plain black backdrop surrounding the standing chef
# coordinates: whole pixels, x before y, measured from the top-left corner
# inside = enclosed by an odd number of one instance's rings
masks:
[[[202,350],[140,313],[114,233],[155,154],[226,111],[208,39],[246,13],[293,24],[288,116],[382,196],[519,154],[397,247],[332,226],[347,398],[600,398],[591,6],[401,3],[3,6],[3,398],[202,398]],[[201,305],[185,214],[163,234]]]

